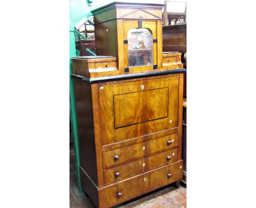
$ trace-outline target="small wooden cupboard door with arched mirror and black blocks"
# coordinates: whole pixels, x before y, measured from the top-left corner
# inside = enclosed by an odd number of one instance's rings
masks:
[[[123,21],[123,28],[125,69],[153,70],[158,64],[157,42],[153,41],[157,39],[157,22]]]

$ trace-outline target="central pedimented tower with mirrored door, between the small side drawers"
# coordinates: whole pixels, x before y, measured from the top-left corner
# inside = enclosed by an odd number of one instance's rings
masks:
[[[97,55],[117,56],[119,74],[161,70],[163,7],[113,2],[92,10]]]

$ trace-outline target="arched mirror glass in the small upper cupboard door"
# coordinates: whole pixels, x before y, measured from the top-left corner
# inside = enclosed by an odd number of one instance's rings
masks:
[[[127,33],[128,62],[131,66],[152,65],[152,32],[147,28],[132,28]]]

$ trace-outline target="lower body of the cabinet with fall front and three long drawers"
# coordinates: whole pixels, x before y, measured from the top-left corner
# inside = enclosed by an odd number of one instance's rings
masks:
[[[182,179],[183,74],[73,77],[82,186],[97,207]]]

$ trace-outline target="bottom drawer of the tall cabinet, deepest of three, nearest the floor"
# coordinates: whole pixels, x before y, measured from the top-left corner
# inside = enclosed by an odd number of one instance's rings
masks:
[[[168,175],[171,174],[171,175]],[[98,190],[100,207],[111,207],[138,195],[153,191],[172,182],[181,180],[183,161],[151,170]]]

